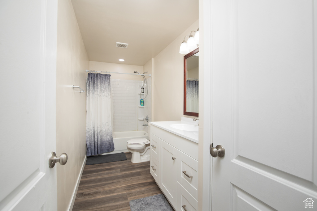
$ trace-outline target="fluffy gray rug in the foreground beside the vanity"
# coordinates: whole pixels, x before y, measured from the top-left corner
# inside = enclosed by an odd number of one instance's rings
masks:
[[[163,194],[130,201],[131,211],[174,211]]]

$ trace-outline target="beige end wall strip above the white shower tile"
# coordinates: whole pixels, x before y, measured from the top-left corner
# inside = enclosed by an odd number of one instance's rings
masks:
[[[143,73],[143,66],[89,61],[89,70],[109,71],[109,72],[125,72],[125,73],[133,73],[133,71],[138,71],[139,73],[142,74]],[[126,79],[126,80],[139,80],[139,81],[143,80],[143,78],[141,76],[129,75],[129,74],[111,74],[111,78]]]

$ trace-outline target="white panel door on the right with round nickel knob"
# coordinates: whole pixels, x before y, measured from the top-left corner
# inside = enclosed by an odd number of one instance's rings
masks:
[[[212,210],[317,210],[317,2],[210,8]]]

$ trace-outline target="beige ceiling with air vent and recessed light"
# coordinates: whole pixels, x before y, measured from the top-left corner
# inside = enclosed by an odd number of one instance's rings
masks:
[[[90,61],[143,66],[198,20],[198,0],[72,0],[72,4]],[[116,42],[129,45],[118,48]]]

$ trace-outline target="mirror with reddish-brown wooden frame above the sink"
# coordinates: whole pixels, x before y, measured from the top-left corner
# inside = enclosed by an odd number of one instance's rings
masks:
[[[184,115],[198,117],[198,48],[184,56]]]

